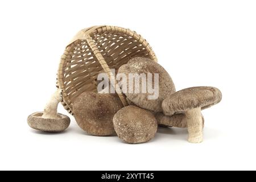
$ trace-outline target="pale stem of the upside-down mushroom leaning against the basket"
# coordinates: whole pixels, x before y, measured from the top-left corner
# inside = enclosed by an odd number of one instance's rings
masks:
[[[57,107],[61,101],[61,89],[57,89],[55,93],[52,94],[50,100],[47,102],[46,107],[44,107],[44,113],[42,118],[60,118],[57,114]]]

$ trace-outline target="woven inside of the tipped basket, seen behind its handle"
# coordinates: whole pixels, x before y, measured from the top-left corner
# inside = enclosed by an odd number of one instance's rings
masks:
[[[108,31],[91,36],[109,68],[115,69],[115,74],[133,57],[150,58],[138,40],[122,32]],[[97,92],[97,76],[104,71],[87,40],[77,41],[65,61],[63,81],[68,102],[73,102],[82,92]]]

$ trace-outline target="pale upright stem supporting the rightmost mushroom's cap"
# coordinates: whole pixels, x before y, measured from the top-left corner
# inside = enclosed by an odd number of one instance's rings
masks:
[[[188,142],[203,142],[203,119],[201,108],[197,107],[185,112],[188,124]]]

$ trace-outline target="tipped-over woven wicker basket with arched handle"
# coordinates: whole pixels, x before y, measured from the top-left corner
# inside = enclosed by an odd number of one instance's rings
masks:
[[[72,101],[82,92],[97,92],[98,73],[112,76],[110,69],[126,64],[133,57],[147,57],[157,61],[155,53],[141,35],[126,28],[94,26],[77,33],[61,56],[57,73],[57,87],[62,89],[61,104],[73,114]],[[124,106],[125,96],[115,86]]]

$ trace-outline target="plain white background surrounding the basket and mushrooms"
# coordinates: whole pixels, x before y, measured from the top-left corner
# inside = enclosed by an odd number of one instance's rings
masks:
[[[256,169],[255,1],[0,1],[0,21],[0,169]],[[55,90],[69,40],[101,24],[143,35],[177,90],[222,91],[203,111],[203,143],[160,129],[148,143],[125,144],[86,135],[70,115],[61,134],[27,126]]]

